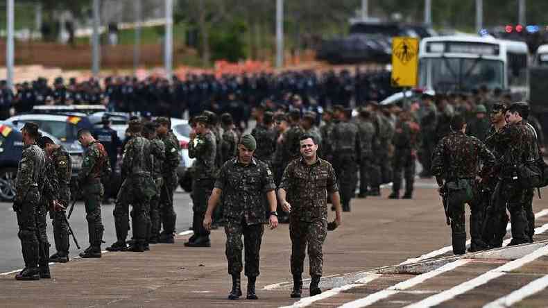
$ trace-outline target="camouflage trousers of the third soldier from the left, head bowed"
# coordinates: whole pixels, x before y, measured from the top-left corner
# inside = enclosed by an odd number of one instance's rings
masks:
[[[87,232],[89,244],[101,246],[103,242],[103,221],[101,219],[101,201],[103,200],[103,184],[100,180],[83,187],[85,219],[87,220]]]

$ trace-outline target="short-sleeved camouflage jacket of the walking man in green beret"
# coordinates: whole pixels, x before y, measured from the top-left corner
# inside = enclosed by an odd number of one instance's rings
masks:
[[[221,167],[215,187],[223,190],[223,214],[231,223],[264,223],[264,199],[276,187],[268,165],[255,158],[248,165],[236,157]]]

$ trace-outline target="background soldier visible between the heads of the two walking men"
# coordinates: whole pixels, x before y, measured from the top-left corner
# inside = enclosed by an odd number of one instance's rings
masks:
[[[272,112],[265,112],[262,123],[257,122],[257,126],[251,130],[251,135],[257,140],[255,157],[268,164],[268,166],[272,166],[276,150],[276,130],[272,127],[273,117]]]

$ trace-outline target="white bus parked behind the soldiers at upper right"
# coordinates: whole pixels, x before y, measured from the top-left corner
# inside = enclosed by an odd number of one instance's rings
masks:
[[[524,42],[472,35],[428,37],[420,42],[419,87],[436,92],[488,89],[528,91]]]

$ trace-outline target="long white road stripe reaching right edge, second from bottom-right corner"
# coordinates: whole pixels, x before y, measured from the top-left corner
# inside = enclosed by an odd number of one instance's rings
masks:
[[[406,306],[405,308],[423,308],[423,307],[432,307],[432,306],[440,305],[440,303],[442,302],[451,300],[452,298],[455,298],[455,296],[459,296],[472,289],[475,289],[478,286],[486,284],[497,277],[506,275],[506,272],[513,271],[516,268],[520,268],[524,264],[532,262],[538,259],[539,257],[542,257],[547,254],[548,254],[548,246],[538,248],[537,250],[533,251],[533,253],[529,253],[529,255],[524,255],[524,257],[521,257],[520,259],[516,259],[514,261],[504,264],[503,266],[493,268],[492,270],[486,273],[483,273],[482,275],[479,275],[478,277],[475,277],[472,280],[468,280],[467,282],[458,284],[449,290],[443,291],[434,296],[430,296],[429,298],[425,298],[424,300],[421,300],[420,302],[416,302],[412,305]]]

